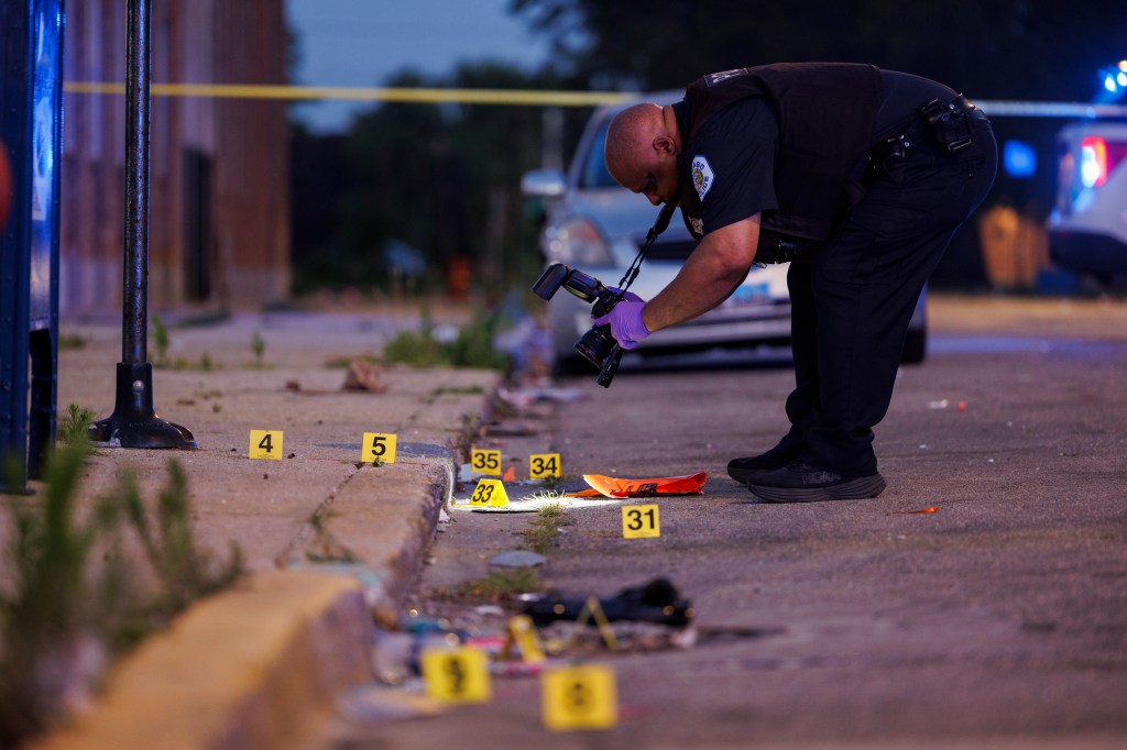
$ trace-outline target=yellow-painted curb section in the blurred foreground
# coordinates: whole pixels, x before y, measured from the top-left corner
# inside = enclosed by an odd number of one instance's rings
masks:
[[[97,707],[37,747],[284,748],[371,679],[357,581],[261,572],[189,608],[112,672]]]

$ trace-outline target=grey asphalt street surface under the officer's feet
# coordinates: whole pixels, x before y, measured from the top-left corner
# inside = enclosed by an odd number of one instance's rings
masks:
[[[619,630],[623,648],[552,664],[613,670],[610,729],[548,731],[538,680],[498,676],[486,704],[354,720],[323,747],[1122,747],[1127,306],[933,297],[930,310],[932,354],[900,370],[876,429],[888,489],[875,500],[762,503],[727,477],[730,457],[786,426],[793,374],[766,356],[632,366],[610,390],[573,377],[561,384],[578,401],[512,417],[505,431],[529,435],[498,432],[497,446],[559,450],[567,476],[708,473],[702,495],[627,501],[658,506],[656,538],[625,538],[619,507],[577,502],[536,569],[573,598],[664,577],[695,632],[663,645]],[[485,643],[514,604],[490,614],[446,592],[494,570],[530,517],[456,519],[412,606]]]

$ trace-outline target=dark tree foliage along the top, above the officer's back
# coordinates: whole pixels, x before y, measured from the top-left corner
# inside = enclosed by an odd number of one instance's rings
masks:
[[[871,62],[978,98],[1079,99],[1122,59],[1121,0],[511,0],[594,88],[682,88],[770,62]]]

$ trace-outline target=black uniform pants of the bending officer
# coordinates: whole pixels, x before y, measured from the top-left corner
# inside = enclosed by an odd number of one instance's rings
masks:
[[[958,153],[929,139],[886,159],[844,229],[813,260],[791,262],[795,391],[781,445],[804,444],[799,461],[846,477],[877,472],[872,427],[888,410],[916,301],[994,181],[990,122],[973,128]]]

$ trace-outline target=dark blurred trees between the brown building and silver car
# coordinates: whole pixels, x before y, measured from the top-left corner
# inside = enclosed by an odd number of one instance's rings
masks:
[[[405,71],[403,88],[550,89],[562,83],[496,62],[449,78]],[[586,115],[586,111],[583,113]],[[535,226],[524,216],[521,176],[540,166],[540,107],[385,104],[344,136],[293,139],[294,265],[299,293],[318,287],[388,288],[383,250],[417,249],[427,287],[468,260],[476,289],[496,295],[539,273]]]

